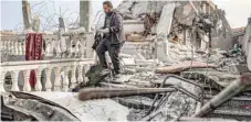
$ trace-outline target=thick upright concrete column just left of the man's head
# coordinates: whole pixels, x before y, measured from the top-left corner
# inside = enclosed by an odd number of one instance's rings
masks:
[[[92,2],[90,0],[80,0],[80,26],[91,31],[92,22]]]

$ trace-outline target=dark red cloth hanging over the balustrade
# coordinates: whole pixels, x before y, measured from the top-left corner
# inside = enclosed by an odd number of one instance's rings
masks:
[[[28,33],[25,45],[25,60],[41,60],[42,59],[42,33]],[[31,70],[30,80],[31,87],[35,85],[35,71]]]

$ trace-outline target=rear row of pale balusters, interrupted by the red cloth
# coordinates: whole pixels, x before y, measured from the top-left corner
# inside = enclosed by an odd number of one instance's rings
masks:
[[[42,56],[51,59],[91,58],[93,56],[91,48],[94,42],[93,38],[92,33],[71,36],[43,35]],[[4,59],[4,54],[11,56],[25,55],[25,35],[1,36],[1,62],[10,62]],[[65,45],[66,47],[61,47],[61,45]]]

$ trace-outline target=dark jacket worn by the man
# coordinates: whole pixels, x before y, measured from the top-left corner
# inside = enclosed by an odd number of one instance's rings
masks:
[[[106,16],[107,18],[107,16]],[[106,21],[107,19],[105,19]],[[106,22],[104,27],[107,26]],[[124,26],[123,26],[123,16],[122,14],[113,10],[109,21],[109,33],[107,40],[111,41],[111,44],[121,44],[124,42]]]

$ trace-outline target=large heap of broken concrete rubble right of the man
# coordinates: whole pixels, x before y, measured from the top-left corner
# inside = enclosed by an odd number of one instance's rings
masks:
[[[166,32],[168,44],[158,45],[161,42],[158,40],[158,22],[166,4],[171,3],[175,3],[175,11],[169,18],[170,29]],[[118,5],[117,10],[126,22],[142,21],[145,30],[126,33],[127,41],[121,56],[124,62],[122,76],[118,79],[106,77],[101,85],[109,88],[177,89],[167,93],[114,99],[129,108],[129,121],[170,121],[192,117],[209,101],[208,97],[213,98],[238,80],[240,75],[249,73],[245,54],[232,44],[234,37],[224,12],[212,5],[211,11],[205,11],[203,3],[123,1]],[[219,40],[230,45],[221,46]],[[163,53],[158,52],[159,46],[165,52],[165,58],[156,57],[156,53]],[[249,110],[241,108],[242,99],[247,100],[244,106],[250,106],[251,100],[242,96],[249,92],[249,88],[244,89],[236,98],[238,104],[233,106],[230,100],[205,118],[249,120]]]

